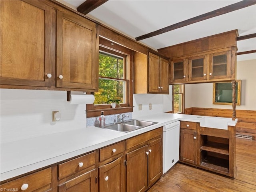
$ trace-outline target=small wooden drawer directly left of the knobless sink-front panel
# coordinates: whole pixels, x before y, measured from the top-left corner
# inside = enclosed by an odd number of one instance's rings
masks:
[[[124,152],[124,141],[100,149],[100,161]]]

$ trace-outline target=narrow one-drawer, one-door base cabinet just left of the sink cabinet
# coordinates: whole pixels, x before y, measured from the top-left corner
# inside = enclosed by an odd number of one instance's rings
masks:
[[[100,149],[99,192],[125,191],[124,149],[124,141]]]

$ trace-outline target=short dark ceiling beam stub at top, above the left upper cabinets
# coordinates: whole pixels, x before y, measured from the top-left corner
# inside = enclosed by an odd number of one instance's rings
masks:
[[[82,14],[88,14],[92,10],[106,3],[108,0],[86,0],[80,6],[78,6],[77,11]]]

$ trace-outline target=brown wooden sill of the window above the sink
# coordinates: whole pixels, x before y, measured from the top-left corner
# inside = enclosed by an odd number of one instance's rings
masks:
[[[86,110],[86,118],[98,117],[100,116],[101,111],[104,111],[104,115],[113,115],[113,114],[132,112],[133,107],[120,107],[120,108],[117,107],[117,108]]]

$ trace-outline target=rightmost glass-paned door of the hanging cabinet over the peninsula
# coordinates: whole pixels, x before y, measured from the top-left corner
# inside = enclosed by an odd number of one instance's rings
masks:
[[[231,51],[210,54],[208,78],[231,78]]]

